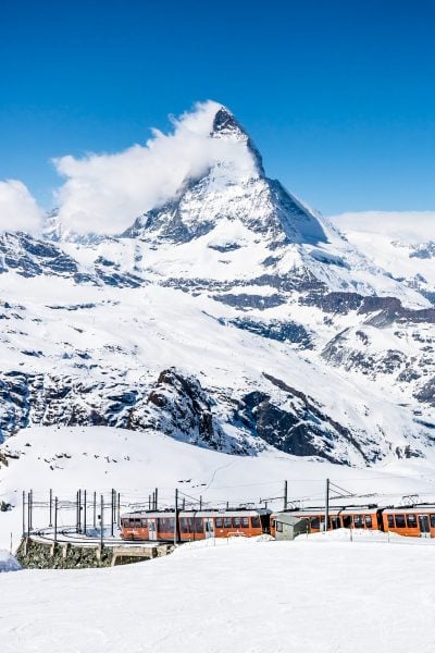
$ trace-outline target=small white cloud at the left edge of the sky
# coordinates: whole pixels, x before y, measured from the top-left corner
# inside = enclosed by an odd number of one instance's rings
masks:
[[[0,181],[0,232],[38,232],[42,212],[27,187],[18,180]]]

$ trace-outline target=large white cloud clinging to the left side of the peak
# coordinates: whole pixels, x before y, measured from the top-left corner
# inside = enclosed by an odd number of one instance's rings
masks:
[[[152,131],[146,145],[82,159],[54,160],[66,182],[57,192],[63,229],[77,233],[119,234],[149,209],[174,197],[183,183],[203,174],[215,161],[252,172],[252,157],[241,140],[211,138],[221,104],[208,101],[173,119],[173,132]]]

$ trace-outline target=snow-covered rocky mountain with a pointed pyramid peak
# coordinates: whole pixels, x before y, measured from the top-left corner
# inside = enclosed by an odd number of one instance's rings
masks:
[[[227,109],[209,137],[222,157],[117,237],[55,215],[39,239],[1,236],[2,436],[100,424],[241,455],[424,456],[431,294],[268,178]]]

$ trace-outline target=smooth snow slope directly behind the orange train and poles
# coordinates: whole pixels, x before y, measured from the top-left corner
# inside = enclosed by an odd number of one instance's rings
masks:
[[[12,510],[0,512],[0,547],[9,547],[12,533],[17,546],[22,533],[23,489],[34,492],[34,528],[49,523],[49,489],[62,501],[75,500],[78,489],[105,495],[115,488],[122,509],[148,506],[148,496],[159,488],[159,504],[169,507],[174,490],[187,505],[224,506],[247,503],[282,507],[284,480],[295,505],[321,505],[325,479],[355,493],[350,503],[388,505],[403,495],[420,501],[435,498],[435,458],[391,461],[358,469],[333,465],[319,458],[301,458],[268,447],[257,456],[236,456],[178,442],[158,433],[139,433],[104,427],[23,429],[0,449],[9,465],[0,477],[0,500]],[[332,497],[334,494],[332,493]],[[332,498],[332,504],[334,500]],[[408,500],[409,503],[409,500]],[[62,509],[59,526],[75,523],[74,505]]]

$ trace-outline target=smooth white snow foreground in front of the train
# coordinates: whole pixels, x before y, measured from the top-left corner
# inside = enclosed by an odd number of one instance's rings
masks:
[[[3,653],[432,653],[433,546],[236,541],[0,576]]]

